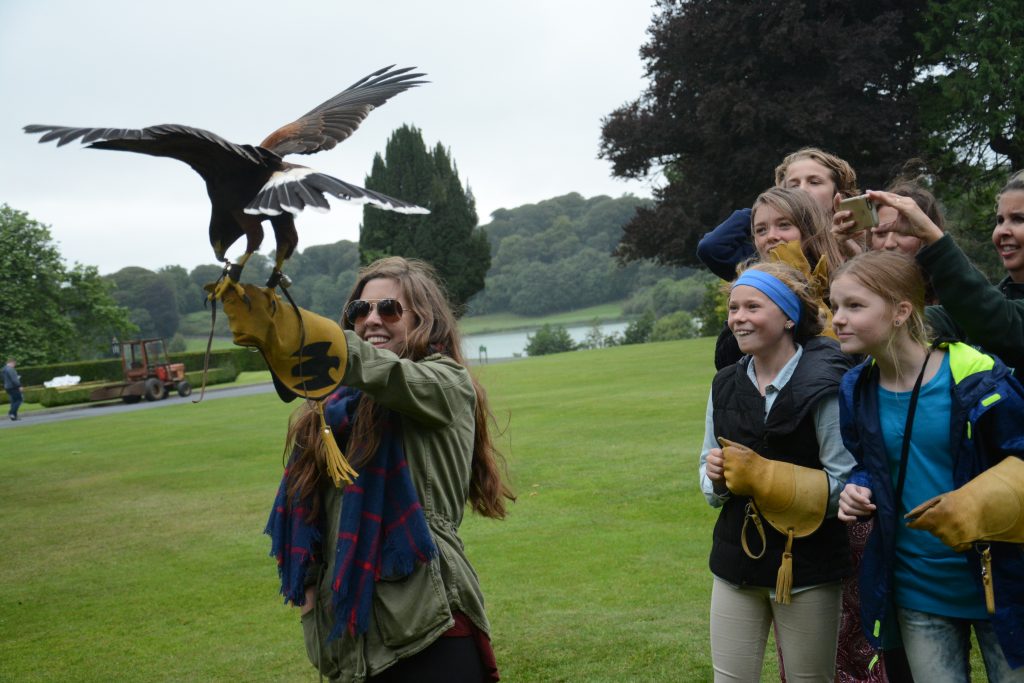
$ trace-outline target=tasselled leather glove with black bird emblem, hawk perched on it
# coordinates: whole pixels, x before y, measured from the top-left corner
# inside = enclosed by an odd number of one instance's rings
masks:
[[[207,285],[211,291],[213,285]],[[348,362],[348,344],[338,324],[304,308],[283,303],[273,290],[243,285],[222,294],[221,302],[239,346],[259,349],[273,386],[285,402],[313,401],[321,420],[318,450],[336,486],[351,483],[356,472],[342,455],[324,417],[322,400],[338,388]]]

